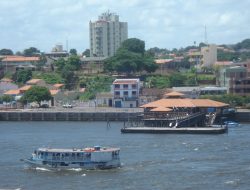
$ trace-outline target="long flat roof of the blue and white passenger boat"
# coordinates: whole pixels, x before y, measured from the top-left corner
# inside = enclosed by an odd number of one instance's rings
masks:
[[[73,153],[73,152],[111,152],[111,151],[117,151],[120,150],[120,148],[106,148],[106,147],[100,147],[100,149],[95,148],[38,148],[37,151],[43,151],[43,152],[55,152],[55,153]]]

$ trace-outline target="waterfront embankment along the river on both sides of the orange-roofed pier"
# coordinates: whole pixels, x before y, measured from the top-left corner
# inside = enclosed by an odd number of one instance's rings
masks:
[[[0,110],[0,121],[128,121],[143,114],[142,108],[40,108]],[[228,118],[241,123],[250,122],[250,110],[237,110]]]

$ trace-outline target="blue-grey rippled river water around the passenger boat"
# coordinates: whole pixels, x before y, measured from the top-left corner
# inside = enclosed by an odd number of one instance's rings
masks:
[[[250,125],[222,135],[121,134],[123,123],[1,122],[0,189],[250,189]],[[121,148],[122,168],[28,169],[38,147]]]

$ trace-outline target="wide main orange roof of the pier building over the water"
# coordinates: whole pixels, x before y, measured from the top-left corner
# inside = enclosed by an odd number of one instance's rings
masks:
[[[209,100],[209,99],[160,99],[154,102],[150,102],[148,104],[142,105],[142,108],[157,108],[157,107],[166,107],[166,108],[173,108],[173,107],[226,107],[228,104]]]

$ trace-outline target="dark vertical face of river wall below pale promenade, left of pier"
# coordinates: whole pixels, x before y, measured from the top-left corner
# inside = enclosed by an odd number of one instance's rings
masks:
[[[140,112],[0,112],[0,121],[127,121]]]

